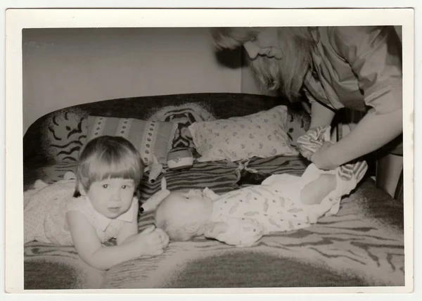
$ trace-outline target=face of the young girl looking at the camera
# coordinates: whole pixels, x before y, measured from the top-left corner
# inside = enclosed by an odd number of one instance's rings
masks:
[[[86,196],[96,212],[109,219],[115,219],[129,210],[134,191],[135,184],[132,179],[103,179],[91,184]]]

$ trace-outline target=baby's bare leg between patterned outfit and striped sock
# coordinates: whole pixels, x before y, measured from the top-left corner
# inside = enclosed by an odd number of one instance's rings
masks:
[[[305,205],[320,204],[336,186],[334,174],[321,174],[318,179],[309,182],[300,191],[300,200]]]

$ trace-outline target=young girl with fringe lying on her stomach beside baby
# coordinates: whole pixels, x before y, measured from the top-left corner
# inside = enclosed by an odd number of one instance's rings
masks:
[[[151,227],[138,233],[135,195],[142,174],[139,152],[127,139],[89,141],[76,177],[26,193],[25,243],[75,245],[82,260],[96,269],[161,254],[169,241],[164,231]],[[104,246],[111,238],[117,245]]]

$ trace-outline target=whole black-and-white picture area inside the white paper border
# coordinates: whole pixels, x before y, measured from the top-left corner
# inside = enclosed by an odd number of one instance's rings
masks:
[[[23,28],[24,289],[404,286],[402,60],[390,24]]]

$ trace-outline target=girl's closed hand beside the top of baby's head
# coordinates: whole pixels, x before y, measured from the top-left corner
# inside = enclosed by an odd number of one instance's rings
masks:
[[[134,245],[139,248],[139,255],[160,255],[169,243],[169,237],[162,229],[151,226],[139,233]]]

